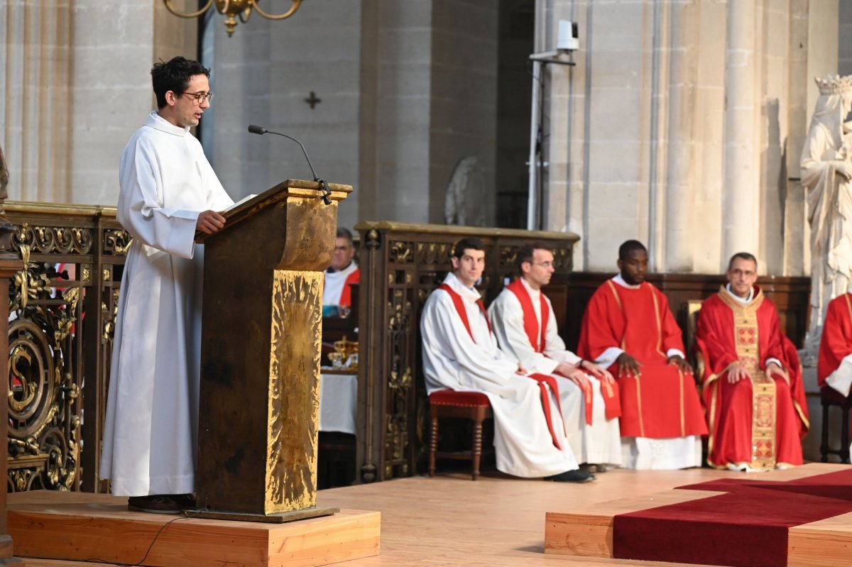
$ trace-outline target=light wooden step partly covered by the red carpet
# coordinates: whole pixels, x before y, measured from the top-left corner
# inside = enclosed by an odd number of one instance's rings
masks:
[[[786,482],[826,472],[837,472],[848,465],[811,463],[784,471],[736,475],[732,478]],[[684,483],[688,484],[688,483]],[[592,506],[546,514],[544,553],[582,557],[613,557],[613,517],[621,513],[693,501],[722,494],[709,490],[665,490],[619,500],[597,502]],[[556,508],[556,507],[555,507]],[[632,563],[632,562],[625,562]],[[788,565],[852,564],[852,513],[790,528],[787,540]]]

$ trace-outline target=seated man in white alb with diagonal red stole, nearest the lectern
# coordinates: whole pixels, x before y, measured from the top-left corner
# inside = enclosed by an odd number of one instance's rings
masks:
[[[474,289],[485,268],[479,238],[463,238],[456,244],[452,267],[444,283],[429,295],[420,318],[427,392],[486,394],[494,415],[498,470],[560,482],[591,480],[594,475],[579,470],[571,452],[555,410],[556,396],[497,346]]]

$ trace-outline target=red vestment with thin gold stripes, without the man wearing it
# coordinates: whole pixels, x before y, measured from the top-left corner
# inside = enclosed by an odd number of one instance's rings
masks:
[[[610,346],[621,348],[642,364],[634,378],[609,371],[621,392],[621,435],[676,438],[706,435],[698,392],[691,374],[668,364],[666,352],[683,352],[681,329],[665,295],[648,282],[628,289],[612,280],[591,296],[583,315],[578,354],[595,360]]]

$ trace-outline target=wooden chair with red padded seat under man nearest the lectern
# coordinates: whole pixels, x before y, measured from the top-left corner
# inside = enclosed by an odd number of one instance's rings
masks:
[[[435,459],[473,461],[473,479],[479,478],[482,457],[482,422],[492,417],[491,403],[484,393],[439,390],[429,394],[429,415],[432,418],[429,441],[429,476],[435,476]],[[461,417],[473,421],[474,432],[470,450],[439,451],[438,421],[444,417]],[[486,450],[491,453],[493,450]]]

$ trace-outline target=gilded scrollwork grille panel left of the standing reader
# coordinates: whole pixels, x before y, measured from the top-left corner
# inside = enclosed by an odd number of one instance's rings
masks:
[[[72,229],[32,234],[42,243],[56,238],[53,249],[67,249],[79,239]],[[24,269],[9,287],[9,486],[72,490],[79,462],[79,388],[64,369],[72,356],[80,288],[52,287],[55,265],[32,261],[28,243],[19,251]]]

